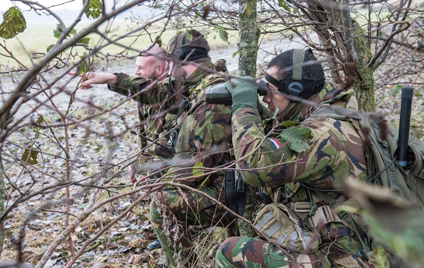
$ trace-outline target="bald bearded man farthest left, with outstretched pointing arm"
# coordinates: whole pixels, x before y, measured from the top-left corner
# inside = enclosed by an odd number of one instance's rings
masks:
[[[133,96],[133,99],[138,102],[138,147],[142,153],[137,161],[128,167],[129,179],[132,182],[136,181],[135,173],[140,171],[146,162],[172,156],[170,149],[166,146],[167,140],[161,138],[161,134],[175,119],[175,111],[167,108],[174,105],[175,98],[178,96],[178,92],[173,92],[170,88],[164,48],[155,44],[146,47],[137,56],[135,65],[135,76],[122,72],[88,72],[79,75],[78,83],[78,87],[82,89],[89,89],[92,84],[107,84],[109,90],[124,96]],[[75,75],[74,72],[70,74]],[[160,82],[148,88],[152,81]],[[143,89],[144,92],[140,93]],[[149,139],[148,147],[146,147],[147,139]],[[160,243],[155,240],[147,246],[147,249],[158,247]]]

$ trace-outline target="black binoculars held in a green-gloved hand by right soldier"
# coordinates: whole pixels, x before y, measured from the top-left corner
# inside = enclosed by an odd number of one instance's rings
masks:
[[[264,96],[267,94],[268,85],[264,80],[256,82],[258,94]],[[231,105],[231,92],[225,86],[225,83],[210,86],[205,92],[206,102],[209,104],[224,104]]]

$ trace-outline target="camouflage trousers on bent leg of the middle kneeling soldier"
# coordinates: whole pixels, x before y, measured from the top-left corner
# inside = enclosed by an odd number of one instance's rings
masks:
[[[211,186],[199,190],[225,204],[223,190]],[[225,227],[231,223],[228,212],[209,198],[181,188],[166,188],[152,194],[150,220],[169,267],[176,267],[176,259],[180,263],[186,261],[193,246],[190,225]]]

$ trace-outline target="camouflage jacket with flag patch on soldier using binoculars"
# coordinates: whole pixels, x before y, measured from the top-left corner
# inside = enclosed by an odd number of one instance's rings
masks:
[[[352,93],[352,90],[339,92],[327,84],[310,100],[355,109],[357,101]],[[288,116],[277,118],[279,122],[296,121],[295,127],[306,127],[311,131],[307,149],[302,152],[292,150],[290,145],[293,144],[281,136],[284,124],[275,125],[274,131],[265,138],[265,125],[256,109],[240,108],[232,117],[236,159],[245,157],[240,163],[245,169],[241,171],[243,179],[262,187],[275,202],[284,200],[288,207],[297,202],[311,202],[318,207],[326,205],[329,200],[343,197],[343,193],[336,190],[342,179],[351,176],[365,181],[367,177],[365,149],[352,124],[329,117],[312,118],[309,115],[313,110],[313,106],[299,102],[289,108]],[[297,216],[302,219],[302,225],[313,228],[308,213],[298,213]],[[319,250],[332,243],[345,254],[352,255],[350,260],[355,260],[357,267],[365,262],[358,233],[337,215],[335,217],[334,221],[314,227],[320,236]],[[260,249],[256,256],[263,257],[263,253]],[[335,266],[341,257],[343,254],[329,254],[329,260]]]

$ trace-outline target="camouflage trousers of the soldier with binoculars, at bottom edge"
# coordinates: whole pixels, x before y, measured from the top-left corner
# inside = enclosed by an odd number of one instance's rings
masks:
[[[250,237],[230,237],[216,252],[217,268],[356,268],[373,267],[367,261],[333,244],[314,254],[283,252],[274,244]]]

